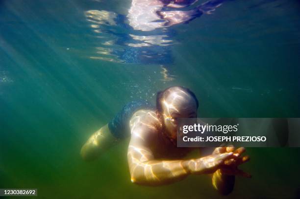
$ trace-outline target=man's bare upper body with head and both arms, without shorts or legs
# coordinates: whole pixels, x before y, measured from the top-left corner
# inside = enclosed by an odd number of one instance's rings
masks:
[[[237,169],[239,164],[249,160],[240,157],[245,149],[216,148],[212,155],[182,159],[182,155],[189,151],[180,151],[175,145],[177,117],[197,117],[197,101],[193,94],[181,87],[168,88],[165,92],[160,98],[162,110],[140,110],[130,119],[127,160],[131,182],[158,186],[181,180],[190,174],[214,174],[221,168],[225,173],[213,175],[214,187],[222,194],[230,193],[234,175],[247,176]]]

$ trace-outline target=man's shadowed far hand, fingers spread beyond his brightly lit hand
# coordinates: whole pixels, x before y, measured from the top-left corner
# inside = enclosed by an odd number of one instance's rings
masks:
[[[213,155],[220,155],[220,154],[228,154],[229,152],[233,152],[234,158],[226,159],[223,165],[220,166],[220,172],[224,175],[231,175],[231,176],[242,176],[242,177],[251,177],[250,174],[238,169],[240,164],[243,164],[250,160],[249,155],[242,156],[245,152],[244,147],[240,147],[234,150],[234,147],[218,147],[214,150]]]

